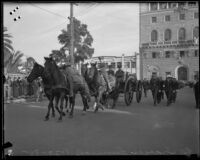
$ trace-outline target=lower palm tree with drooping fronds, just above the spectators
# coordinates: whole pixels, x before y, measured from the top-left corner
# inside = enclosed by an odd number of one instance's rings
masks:
[[[23,57],[23,53],[21,51],[16,51],[12,54],[7,63],[7,72],[8,73],[18,73],[18,67],[21,66],[21,58]]]

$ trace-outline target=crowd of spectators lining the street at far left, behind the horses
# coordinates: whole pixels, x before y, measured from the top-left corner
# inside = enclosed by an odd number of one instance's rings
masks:
[[[36,79],[32,83],[27,82],[27,77],[7,76],[4,83],[4,101],[20,98],[34,98],[40,101],[43,98],[43,86],[41,79]]]

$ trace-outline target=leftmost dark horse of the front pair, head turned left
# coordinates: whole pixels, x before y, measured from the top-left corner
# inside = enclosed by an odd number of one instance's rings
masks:
[[[52,93],[53,83],[52,83],[51,77],[50,77],[49,73],[45,72],[44,67],[42,65],[35,62],[33,69],[31,70],[31,73],[27,77],[27,81],[29,83],[31,83],[33,80],[37,79],[38,77],[42,78],[43,85],[44,85],[44,93],[47,96],[49,102],[51,102],[51,99],[53,101],[53,99],[54,99],[53,93]],[[66,100],[65,108],[67,109],[67,102],[68,102],[67,96],[65,96],[65,100]],[[54,110],[54,107],[53,107],[53,103],[49,103],[48,111],[47,111],[47,114],[45,116],[45,120],[49,119],[49,114],[50,114],[51,109],[52,109],[52,117],[55,117],[55,110]],[[65,114],[63,113],[63,115],[65,115]]]

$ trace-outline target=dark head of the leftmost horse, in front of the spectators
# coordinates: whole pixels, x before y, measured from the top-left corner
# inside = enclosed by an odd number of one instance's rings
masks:
[[[41,77],[43,72],[44,67],[35,62],[31,73],[27,77],[27,81],[31,83],[33,80],[37,79],[38,77]]]

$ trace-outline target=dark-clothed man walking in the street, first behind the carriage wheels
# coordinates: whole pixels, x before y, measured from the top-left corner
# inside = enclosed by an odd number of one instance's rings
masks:
[[[151,78],[150,80],[150,88],[153,96],[154,106],[160,103],[162,98],[162,80],[158,77]]]

